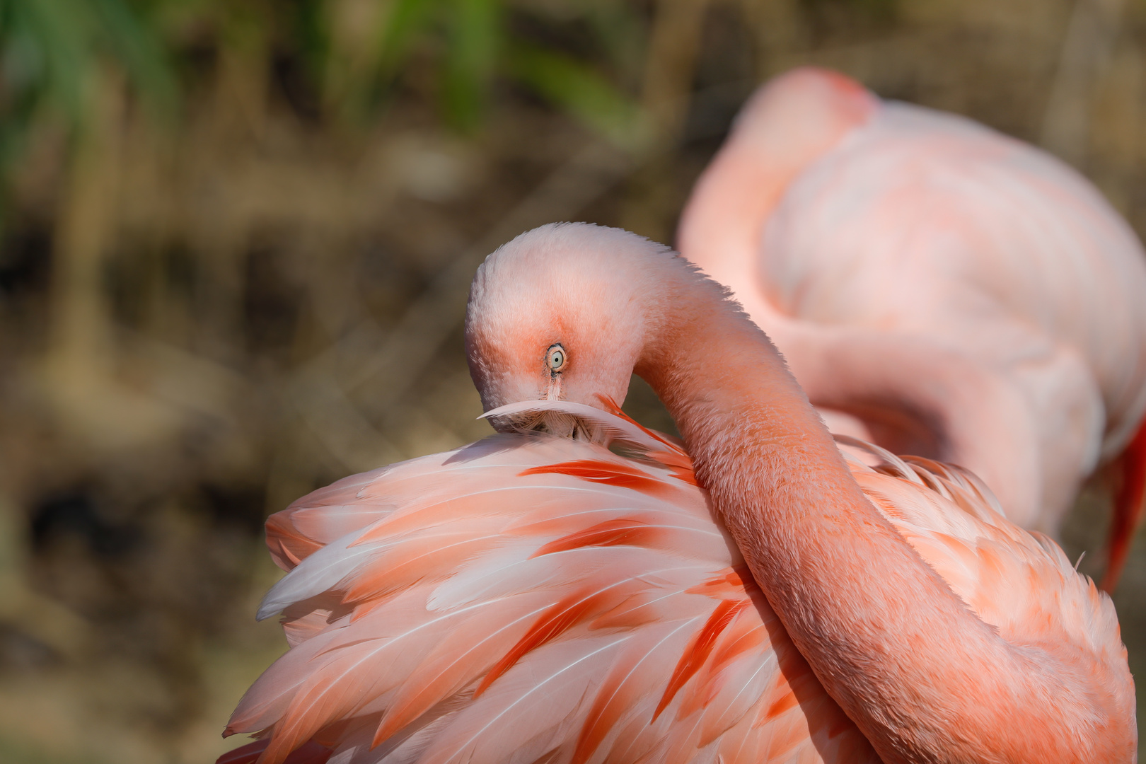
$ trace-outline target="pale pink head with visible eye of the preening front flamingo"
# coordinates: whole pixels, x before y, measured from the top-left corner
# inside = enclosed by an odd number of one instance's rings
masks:
[[[490,254],[465,316],[485,410],[535,400],[620,404],[662,313],[658,271],[674,262],[683,260],[660,244],[588,223],[542,226]]]

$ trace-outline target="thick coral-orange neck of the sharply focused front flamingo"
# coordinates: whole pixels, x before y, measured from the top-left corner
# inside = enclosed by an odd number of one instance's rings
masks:
[[[966,607],[868,502],[771,342],[715,284],[678,271],[636,371],[792,639],[884,761],[1088,761],[1068,724],[1046,730],[1042,699],[1069,694],[1047,659]]]

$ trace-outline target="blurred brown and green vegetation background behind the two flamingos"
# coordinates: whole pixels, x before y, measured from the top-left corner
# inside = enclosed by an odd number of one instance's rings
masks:
[[[0,1],[0,759],[244,742],[285,649],[253,621],[265,517],[485,435],[481,258],[554,220],[670,242],[763,79],[968,115],[1141,234],[1144,50],[1143,0]],[[1098,478],[1065,534],[1091,574],[1108,503]],[[1139,543],[1132,669],[1144,592]]]

